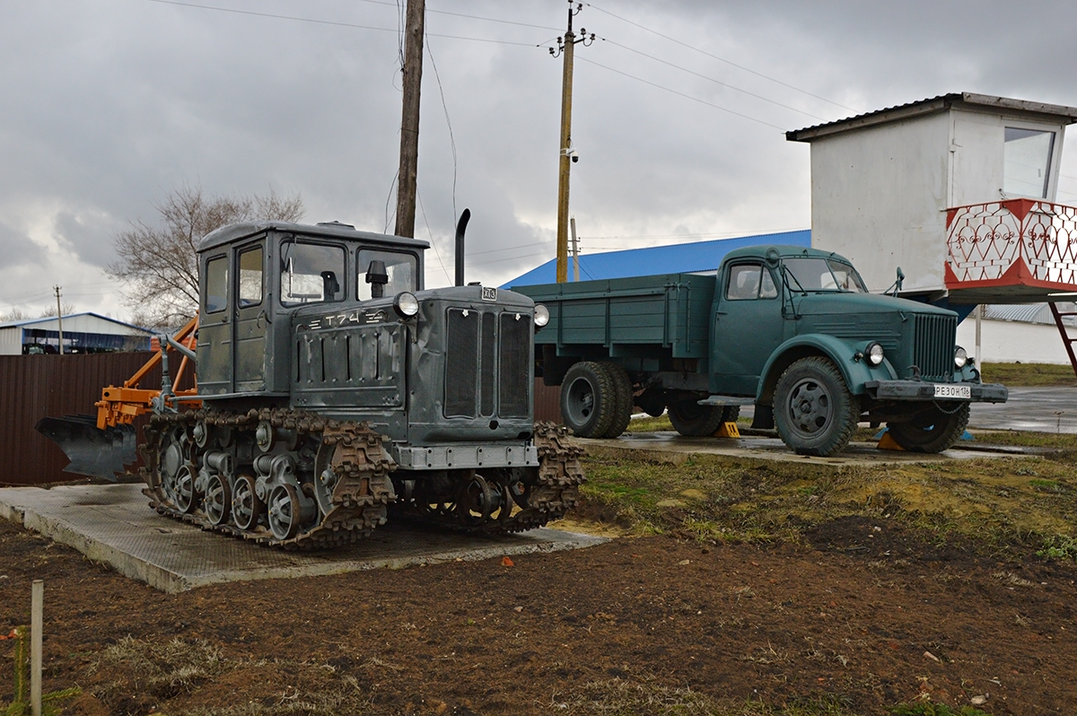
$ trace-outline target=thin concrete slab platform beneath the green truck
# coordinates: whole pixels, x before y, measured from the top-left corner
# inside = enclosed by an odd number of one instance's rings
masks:
[[[602,451],[631,453],[635,458],[681,464],[693,455],[712,454],[729,458],[752,458],[775,462],[796,462],[820,465],[886,465],[901,463],[947,462],[950,460],[978,460],[984,458],[1012,458],[1043,452],[1035,448],[1010,448],[960,444],[938,454],[880,450],[876,443],[851,443],[833,458],[798,455],[777,437],[685,437],[673,432],[625,433],[613,439],[576,438],[591,454]]]

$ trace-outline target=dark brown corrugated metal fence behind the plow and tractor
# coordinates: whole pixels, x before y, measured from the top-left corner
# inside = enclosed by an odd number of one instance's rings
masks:
[[[96,415],[101,389],[122,385],[152,355],[0,355],[0,486],[81,479],[64,472],[64,451],[33,426],[45,417]],[[158,385],[159,368],[142,379],[142,388]],[[535,420],[561,422],[560,390],[535,380]]]

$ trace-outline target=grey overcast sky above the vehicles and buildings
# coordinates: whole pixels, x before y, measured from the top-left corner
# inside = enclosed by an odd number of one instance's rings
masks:
[[[429,286],[451,283],[465,207],[468,280],[554,256],[547,47],[567,9],[428,0]],[[1075,20],[1065,1],[584,3],[575,27],[599,39],[576,47],[582,250],[808,228],[809,146],[786,129],[950,92],[1077,106]],[[125,318],[101,272],[113,239],[182,186],[297,193],[305,221],[392,230],[400,24],[393,0],[0,1],[0,314],[38,315],[59,284],[76,310]]]

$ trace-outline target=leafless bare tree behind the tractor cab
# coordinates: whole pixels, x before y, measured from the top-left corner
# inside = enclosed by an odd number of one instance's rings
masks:
[[[204,236],[243,221],[298,221],[299,195],[206,196],[201,187],[179,188],[156,206],[160,225],[138,221],[116,237],[120,258],[104,270],[125,284],[124,303],[132,321],[146,326],[176,326],[198,310],[198,262],[195,249]]]

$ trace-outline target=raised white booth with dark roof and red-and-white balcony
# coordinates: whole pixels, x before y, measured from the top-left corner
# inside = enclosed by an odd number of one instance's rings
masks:
[[[812,247],[933,303],[1077,287],[1077,210],[1053,203],[1077,108],[956,93],[786,134],[811,144]]]

